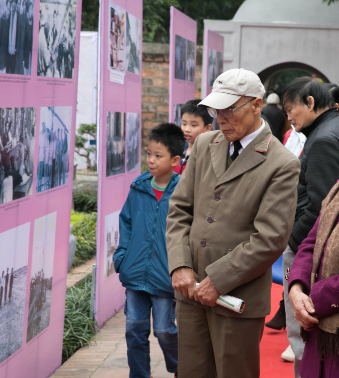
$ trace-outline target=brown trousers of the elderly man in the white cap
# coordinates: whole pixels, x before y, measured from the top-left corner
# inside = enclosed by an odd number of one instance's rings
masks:
[[[175,312],[178,377],[259,378],[265,318],[230,318],[182,301]]]

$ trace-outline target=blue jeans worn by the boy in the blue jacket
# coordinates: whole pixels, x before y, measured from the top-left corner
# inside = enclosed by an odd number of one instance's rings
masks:
[[[126,342],[130,378],[150,378],[151,308],[154,336],[163,350],[169,373],[177,371],[178,340],[174,298],[126,289]]]

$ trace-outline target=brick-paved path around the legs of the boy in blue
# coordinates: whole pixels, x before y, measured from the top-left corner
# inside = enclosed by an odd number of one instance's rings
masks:
[[[121,310],[97,333],[89,347],[78,350],[52,378],[128,378],[126,317]],[[153,378],[173,378],[167,372],[163,352],[153,331],[151,343],[151,372]]]

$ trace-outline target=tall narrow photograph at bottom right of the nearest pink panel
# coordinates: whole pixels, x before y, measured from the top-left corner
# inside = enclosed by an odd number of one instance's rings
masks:
[[[27,343],[49,326],[56,211],[34,220]]]

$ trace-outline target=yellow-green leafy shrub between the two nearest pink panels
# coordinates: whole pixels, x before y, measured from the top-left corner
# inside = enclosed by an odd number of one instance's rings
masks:
[[[78,266],[95,256],[97,248],[97,213],[72,211],[72,234],[76,237],[76,250],[72,266]]]

